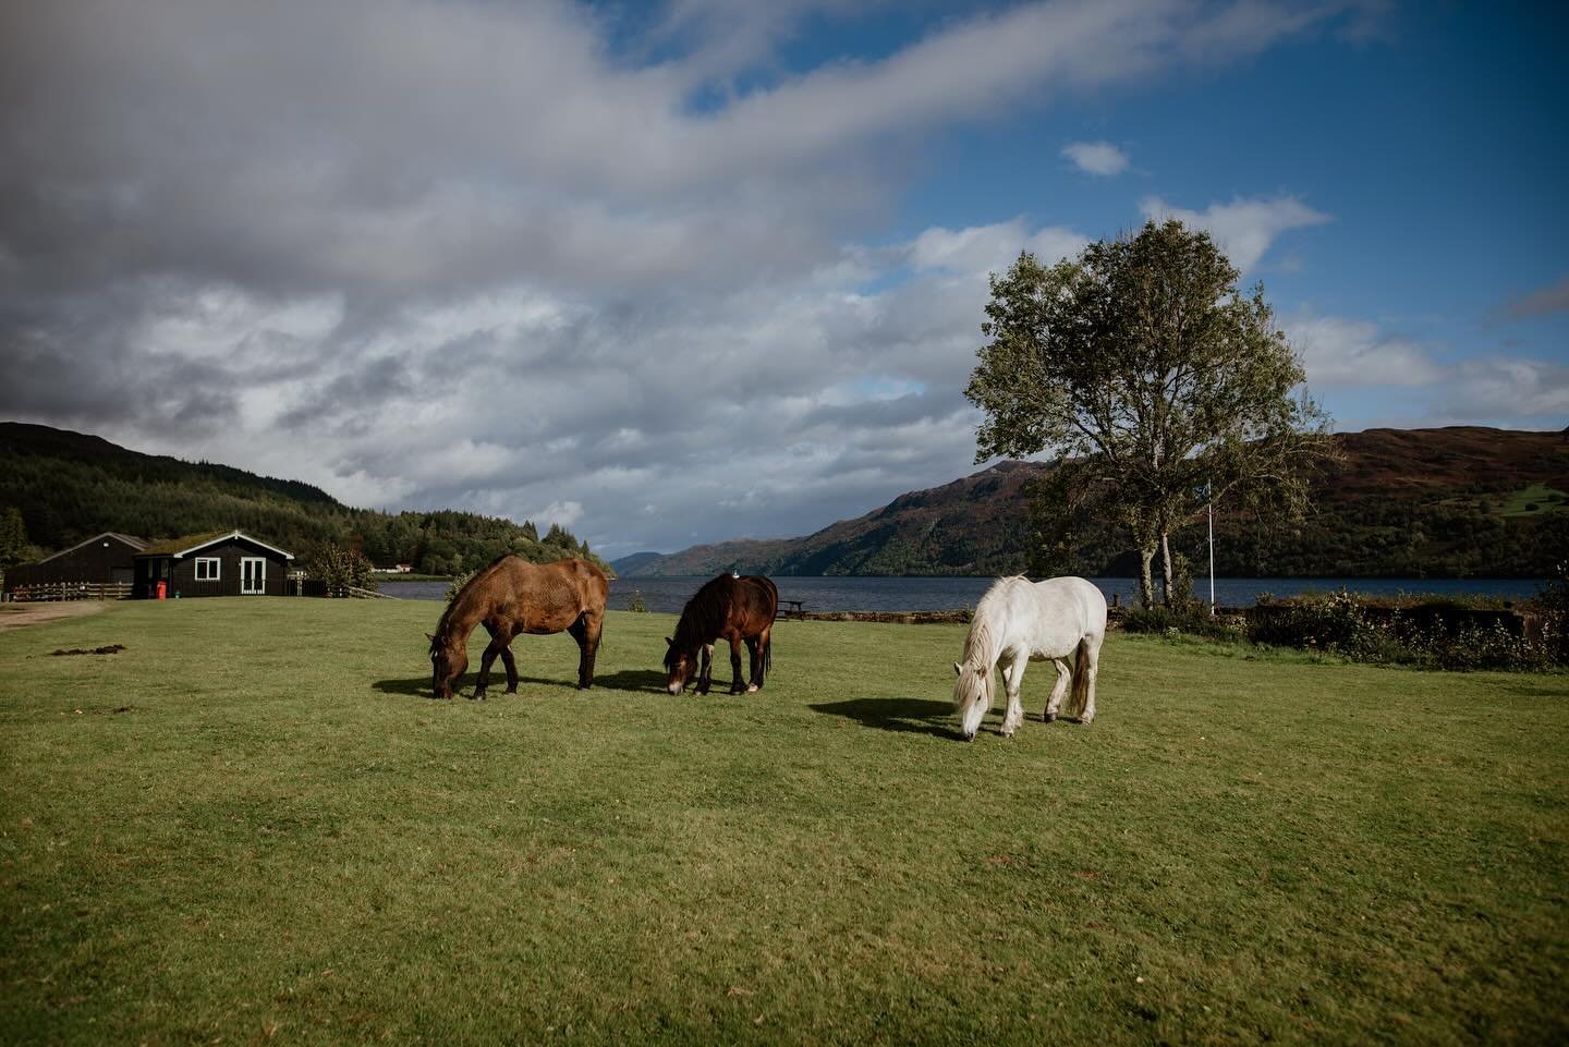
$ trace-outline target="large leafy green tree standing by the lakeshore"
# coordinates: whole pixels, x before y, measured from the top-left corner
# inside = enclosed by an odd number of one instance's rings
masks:
[[[1329,454],[1327,416],[1276,330],[1263,287],[1208,234],[1153,221],[1076,259],[1032,254],[998,276],[981,325],[990,339],[965,396],[984,411],[976,461],[1051,451],[1061,476],[1040,515],[1095,509],[1139,553],[1139,592],[1166,598],[1172,531],[1207,498],[1298,515],[1305,466]],[[1181,593],[1186,596],[1186,593]]]

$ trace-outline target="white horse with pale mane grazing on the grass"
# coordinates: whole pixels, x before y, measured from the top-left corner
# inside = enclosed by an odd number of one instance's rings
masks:
[[[1068,688],[1065,658],[1073,655],[1073,705],[1081,724],[1095,719],[1095,672],[1106,639],[1106,596],[1083,578],[999,578],[976,606],[965,659],[954,662],[954,713],[963,722],[965,741],[973,741],[981,717],[992,708],[992,667],[1003,675],[1007,713],[1003,736],[1012,736],[1025,719],[1018,684],[1031,659],[1053,661],[1058,684],[1047,702],[1047,722],[1058,717]]]

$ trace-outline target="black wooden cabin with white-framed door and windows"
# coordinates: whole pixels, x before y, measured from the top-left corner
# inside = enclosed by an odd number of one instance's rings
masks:
[[[137,553],[133,589],[138,600],[155,600],[158,582],[171,598],[282,596],[292,559],[240,531],[193,534]]]

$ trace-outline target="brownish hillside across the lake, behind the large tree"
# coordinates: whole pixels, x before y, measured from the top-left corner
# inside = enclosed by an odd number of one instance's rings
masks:
[[[1541,578],[1569,554],[1569,433],[1481,427],[1335,436],[1345,463],[1315,482],[1299,527],[1221,513],[1216,570],[1230,576]],[[1029,482],[1047,466],[1001,461],[901,494],[803,538],[726,542],[642,559],[628,576],[1004,575],[1029,570]],[[1224,507],[1222,507],[1224,510]],[[1177,535],[1194,559],[1203,532]],[[1094,535],[1076,570],[1131,575],[1120,535]],[[624,560],[621,564],[626,564]]]

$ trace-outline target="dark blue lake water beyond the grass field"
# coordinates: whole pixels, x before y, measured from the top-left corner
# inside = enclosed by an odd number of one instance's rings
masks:
[[[610,582],[610,609],[624,611],[632,593],[650,611],[679,614],[687,598],[708,578],[621,578]],[[775,578],[781,600],[800,600],[805,611],[957,611],[973,607],[992,578]],[[1134,578],[1095,578],[1106,598],[1123,606],[1134,603]],[[1505,600],[1534,596],[1542,581],[1522,578],[1216,578],[1214,598],[1222,607],[1246,607],[1258,593],[1291,596],[1302,592],[1351,592],[1378,596],[1425,593],[1437,596],[1480,595]],[[403,600],[446,600],[447,582],[388,582],[381,592]],[[1194,593],[1208,600],[1208,579],[1194,584]]]

